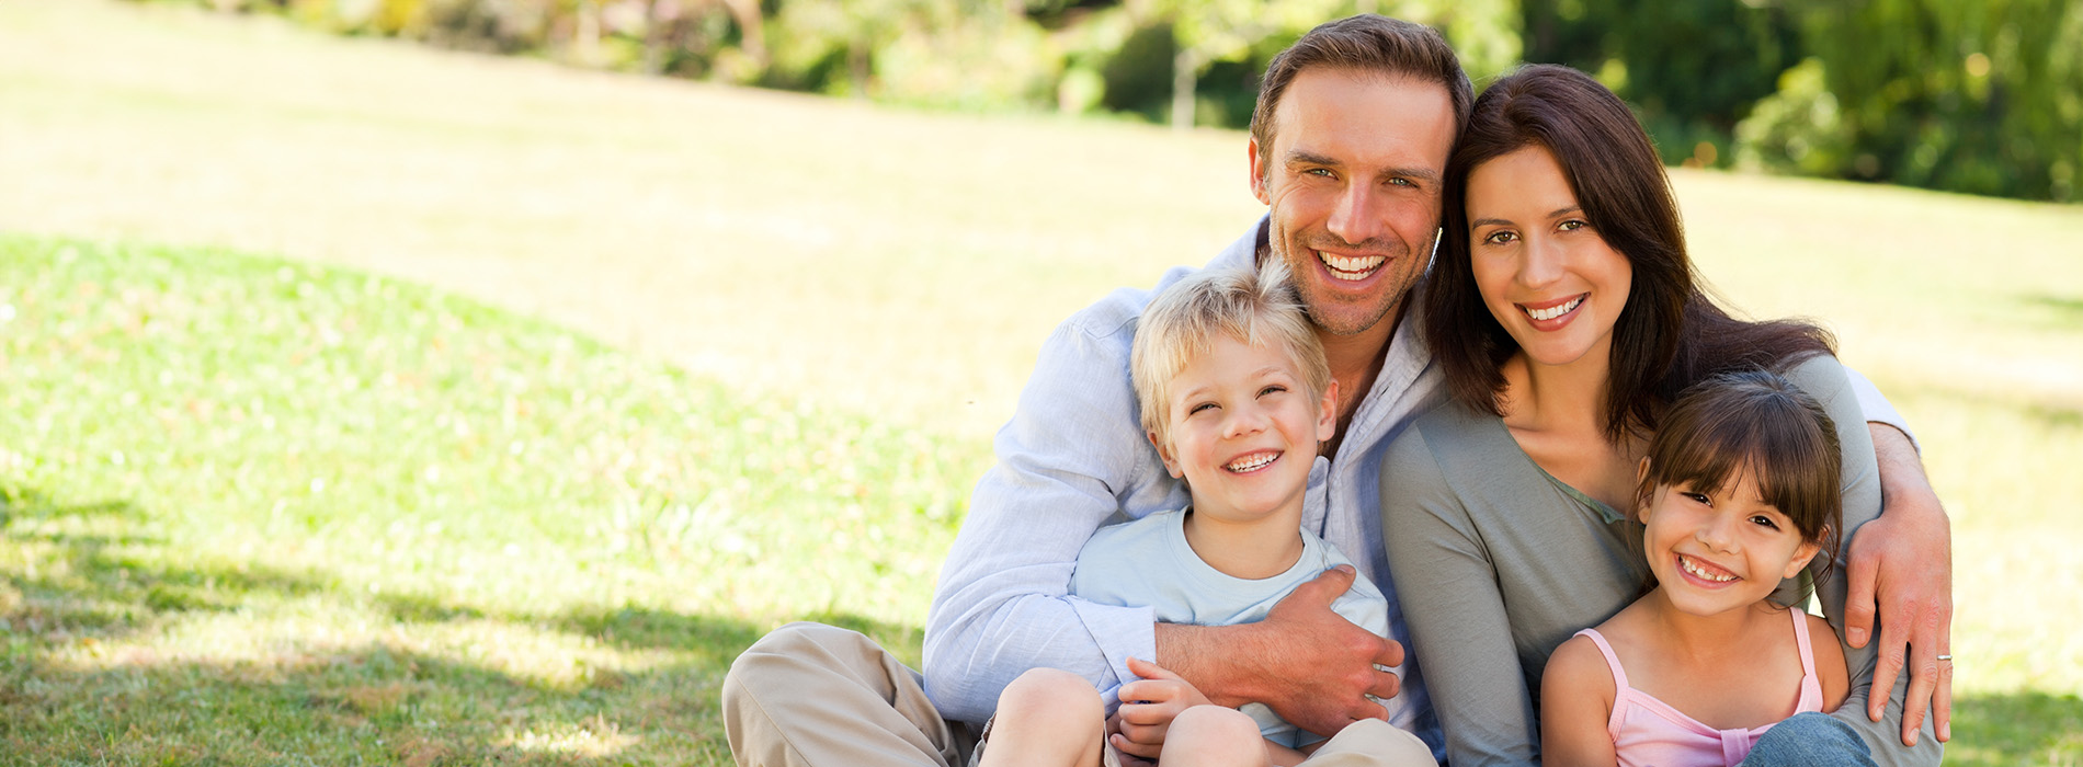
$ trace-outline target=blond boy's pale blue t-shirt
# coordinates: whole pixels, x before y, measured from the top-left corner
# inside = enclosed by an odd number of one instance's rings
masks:
[[[1335,565],[1352,565],[1346,554],[1306,529],[1302,556],[1285,573],[1264,579],[1231,577],[1210,567],[1185,542],[1185,511],[1162,511],[1137,521],[1100,527],[1077,552],[1071,571],[1071,594],[1119,604],[1150,607],[1164,623],[1233,625],[1254,623],[1273,611],[1287,592],[1308,584]],[[1354,569],[1358,573],[1358,567]],[[1366,575],[1358,575],[1331,609],[1358,627],[1389,636],[1389,600]],[[1121,688],[1102,690],[1106,711],[1119,707]],[[1273,709],[1250,702],[1241,709],[1258,732],[1287,748],[1300,748],[1323,738],[1289,725]]]

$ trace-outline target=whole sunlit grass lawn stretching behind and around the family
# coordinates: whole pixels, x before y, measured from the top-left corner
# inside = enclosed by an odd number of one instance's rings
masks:
[[[769,627],[917,657],[1048,327],[1256,215],[1237,133],[96,2],[0,4],[0,179],[31,763],[727,761]],[[2083,211],[1677,179],[1706,273],[1925,440],[1950,761],[2083,761]]]

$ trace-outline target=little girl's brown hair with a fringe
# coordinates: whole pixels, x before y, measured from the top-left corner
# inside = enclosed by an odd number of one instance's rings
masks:
[[[1818,544],[1825,573],[1843,529],[1837,423],[1823,404],[1768,371],[1735,371],[1687,388],[1650,440],[1650,471],[1635,488],[1648,506],[1658,486],[1698,492],[1727,488],[1739,475],[1758,496],[1793,521],[1804,542]]]

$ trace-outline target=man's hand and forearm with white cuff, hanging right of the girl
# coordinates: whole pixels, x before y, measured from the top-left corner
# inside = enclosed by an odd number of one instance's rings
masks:
[[[1952,661],[1939,661],[1939,654],[1952,654],[1952,523],[1910,440],[1889,425],[1868,423],[1868,429],[1881,465],[1881,519],[1852,538],[1846,642],[1866,646],[1879,611],[1881,661],[1873,671],[1866,717],[1881,721],[1896,677],[1908,663],[1902,744],[1916,744],[1927,709],[1937,738],[1952,740]]]

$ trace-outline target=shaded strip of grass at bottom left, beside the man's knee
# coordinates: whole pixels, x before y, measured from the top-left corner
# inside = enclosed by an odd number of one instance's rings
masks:
[[[117,534],[150,529],[133,502],[62,506],[4,481],[0,498],[0,752],[10,754],[0,761],[731,763],[719,688],[758,625],[642,607],[533,615],[425,594],[371,596],[321,569],[181,563],[160,538]],[[404,638],[327,646],[321,625],[310,642],[250,648],[233,638],[229,648],[198,650],[177,629],[190,613],[294,596],[373,613],[392,623],[375,636]],[[917,663],[917,629],[814,619],[860,629]],[[650,663],[658,654],[429,650],[412,638],[460,621],[523,629],[494,632],[485,644],[533,632],[669,654]]]

